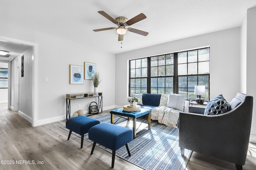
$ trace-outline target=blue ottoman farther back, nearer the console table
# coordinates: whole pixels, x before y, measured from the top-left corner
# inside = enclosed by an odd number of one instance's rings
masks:
[[[88,133],[89,129],[94,125],[100,124],[100,121],[86,116],[77,116],[66,121],[66,128],[69,129],[68,140],[72,131],[81,135],[81,148],[84,143],[84,134]]]

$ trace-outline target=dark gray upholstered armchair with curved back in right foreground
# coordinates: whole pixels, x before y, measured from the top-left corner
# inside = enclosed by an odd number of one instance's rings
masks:
[[[190,106],[180,113],[179,146],[236,164],[242,169],[248,150],[252,123],[253,97],[238,93],[230,102],[230,111],[204,115],[203,107]],[[198,114],[199,113],[199,114]]]

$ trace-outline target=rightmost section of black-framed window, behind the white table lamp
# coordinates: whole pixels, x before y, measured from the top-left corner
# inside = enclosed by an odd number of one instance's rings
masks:
[[[194,95],[195,85],[205,85],[206,95],[209,99],[210,78],[210,48],[180,52],[177,55],[178,65],[178,94],[188,95],[188,99],[197,98]]]

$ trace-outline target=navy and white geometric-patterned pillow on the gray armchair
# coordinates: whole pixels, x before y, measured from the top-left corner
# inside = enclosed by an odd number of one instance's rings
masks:
[[[219,115],[229,111],[230,105],[226,99],[220,94],[212,101],[208,102],[204,114],[205,115]]]

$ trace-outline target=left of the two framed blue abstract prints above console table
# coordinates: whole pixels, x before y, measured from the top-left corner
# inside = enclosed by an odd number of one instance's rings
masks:
[[[69,83],[84,84],[84,66],[69,65]]]

